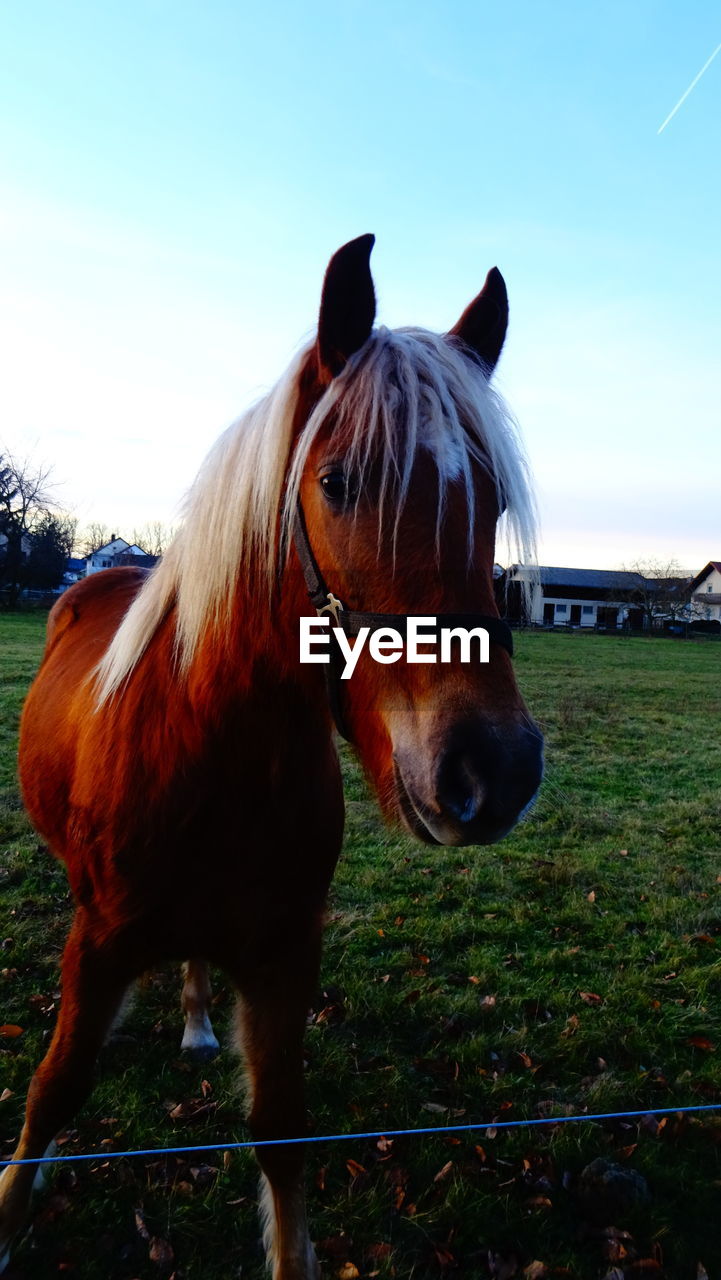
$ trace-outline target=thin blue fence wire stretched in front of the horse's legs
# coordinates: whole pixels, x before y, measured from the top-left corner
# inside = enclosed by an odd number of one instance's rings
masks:
[[[261,1138],[257,1142],[209,1142],[197,1147],[149,1147],[145,1151],[91,1151],[70,1156],[33,1156],[28,1160],[0,1160],[0,1169],[12,1165],[60,1165],[79,1160],[126,1160],[133,1156],[182,1156],[200,1151],[247,1151],[257,1147],[297,1147],[319,1142],[360,1142],[364,1138],[412,1138],[420,1134],[475,1133],[480,1129],[531,1129],[543,1124],[579,1124],[583,1120],[628,1120],[636,1116],[688,1115],[694,1111],[720,1111],[721,1103],[704,1102],[693,1107],[643,1107],[638,1111],[601,1111],[595,1115],[540,1116],[534,1120],[483,1120],[476,1124],[434,1125],[424,1129],[373,1129],[366,1133],[307,1134],[302,1138]]]

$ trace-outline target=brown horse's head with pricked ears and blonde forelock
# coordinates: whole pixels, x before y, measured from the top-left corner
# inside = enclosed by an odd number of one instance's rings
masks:
[[[437,631],[444,614],[498,617],[496,524],[507,503],[528,529],[530,511],[523,460],[488,385],[506,334],[503,279],[492,270],[444,337],[371,333],[371,247],[361,237],[328,268],[291,502],[346,609],[435,617]],[[447,662],[439,645],[419,649],[433,652],[435,662],[409,662],[388,644],[374,658],[366,637],[338,685],[343,719],[388,814],[428,842],[492,844],[537,792],[542,737],[493,630],[488,662],[476,641],[470,660],[456,643]]]

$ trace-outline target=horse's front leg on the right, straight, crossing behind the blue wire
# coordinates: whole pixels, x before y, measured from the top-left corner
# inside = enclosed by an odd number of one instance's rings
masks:
[[[239,1032],[251,1091],[248,1125],[256,1140],[306,1132],[302,1039],[316,960],[297,956],[241,986]],[[256,1148],[263,1170],[261,1217],[273,1280],[319,1275],[306,1220],[304,1146]]]

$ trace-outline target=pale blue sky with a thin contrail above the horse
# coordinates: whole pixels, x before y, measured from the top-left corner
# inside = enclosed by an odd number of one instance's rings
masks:
[[[173,520],[377,236],[379,320],[497,264],[544,563],[721,557],[716,5],[6,6],[0,442],[81,524]]]

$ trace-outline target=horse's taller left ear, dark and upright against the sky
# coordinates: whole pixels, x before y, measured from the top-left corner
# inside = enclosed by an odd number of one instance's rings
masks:
[[[375,236],[359,236],[343,244],[328,264],[318,320],[318,362],[325,376],[336,378],[370,338],[375,320],[370,274],[374,243]]]

